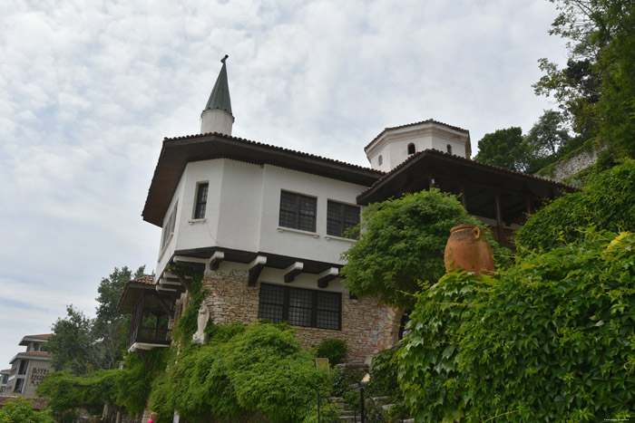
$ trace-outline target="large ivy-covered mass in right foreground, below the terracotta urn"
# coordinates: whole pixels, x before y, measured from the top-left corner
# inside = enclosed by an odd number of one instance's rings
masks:
[[[399,376],[416,421],[635,417],[635,235],[591,232],[419,300]]]

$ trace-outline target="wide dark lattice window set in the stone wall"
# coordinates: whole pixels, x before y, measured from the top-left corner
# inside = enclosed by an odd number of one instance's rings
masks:
[[[342,294],[260,284],[259,319],[294,326],[342,329]]]

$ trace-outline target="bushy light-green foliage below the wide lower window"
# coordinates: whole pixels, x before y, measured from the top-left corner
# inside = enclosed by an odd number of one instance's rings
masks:
[[[301,421],[325,374],[316,369],[288,326],[254,323],[225,341],[190,345],[161,375],[151,393],[160,421],[176,409],[182,418],[239,418],[261,414],[271,422]]]

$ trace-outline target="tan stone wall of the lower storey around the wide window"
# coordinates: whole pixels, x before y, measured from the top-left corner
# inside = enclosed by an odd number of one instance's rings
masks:
[[[203,289],[205,303],[215,324],[256,322],[259,309],[259,286],[247,285],[248,271],[231,269],[206,272]],[[342,293],[342,330],[294,326],[304,348],[317,345],[327,338],[347,341],[348,362],[369,361],[378,351],[390,348],[397,341],[401,314],[381,305],[376,298],[352,299]]]

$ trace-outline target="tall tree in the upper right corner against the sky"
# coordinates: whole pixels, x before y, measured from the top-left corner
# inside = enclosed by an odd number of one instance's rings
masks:
[[[564,69],[542,59],[537,94],[553,95],[585,139],[635,157],[635,3],[551,0],[560,14],[550,34],[568,39]]]

